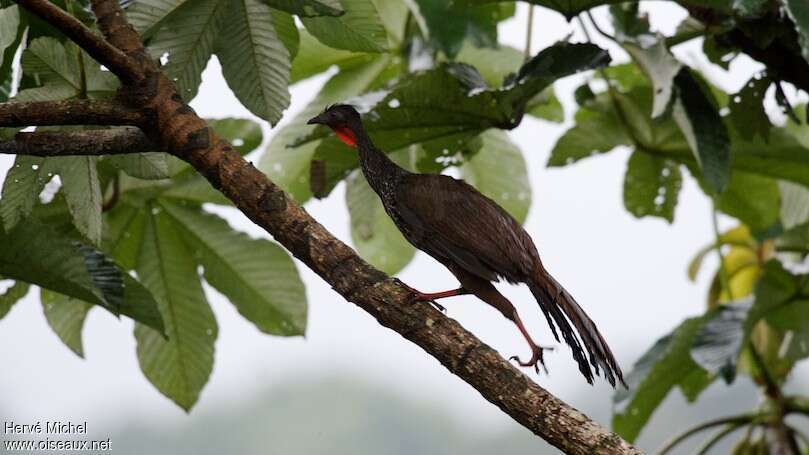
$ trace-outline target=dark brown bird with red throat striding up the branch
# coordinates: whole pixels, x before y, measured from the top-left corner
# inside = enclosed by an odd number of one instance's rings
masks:
[[[463,180],[443,174],[410,172],[394,163],[372,142],[359,112],[349,104],[335,104],[307,122],[329,127],[356,149],[362,173],[379,196],[385,212],[408,242],[432,256],[458,279],[460,287],[443,292],[420,292],[401,281],[413,300],[473,294],[516,324],[531,349],[531,357],[513,356],[522,367],[539,365],[547,373],[543,351],[536,344],[514,305],[493,283],[500,279],[525,283],[539,304],[557,342],[559,333],[588,383],[602,371],[615,387],[626,387],[623,373],[595,323],[573,296],[545,269],[531,236],[495,201]],[[442,308],[439,305],[439,308]]]

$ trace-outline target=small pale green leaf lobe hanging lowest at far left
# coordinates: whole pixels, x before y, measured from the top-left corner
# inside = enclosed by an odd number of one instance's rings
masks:
[[[42,289],[39,293],[45,320],[60,340],[77,356],[84,358],[81,333],[92,305]]]

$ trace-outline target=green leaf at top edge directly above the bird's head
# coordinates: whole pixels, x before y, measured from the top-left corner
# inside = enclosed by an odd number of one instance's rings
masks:
[[[388,35],[371,0],[340,0],[340,17],[302,17],[306,30],[321,43],[337,49],[383,52]]]

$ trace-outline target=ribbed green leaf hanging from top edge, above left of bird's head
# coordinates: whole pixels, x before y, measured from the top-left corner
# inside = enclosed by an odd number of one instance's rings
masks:
[[[227,0],[216,43],[222,74],[239,101],[273,125],[289,106],[291,55],[260,0]]]

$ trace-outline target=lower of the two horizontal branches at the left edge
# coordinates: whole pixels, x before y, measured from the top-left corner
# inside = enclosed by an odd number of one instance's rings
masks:
[[[17,133],[12,140],[0,141],[0,153],[12,155],[121,155],[155,150],[146,135],[132,127]]]

